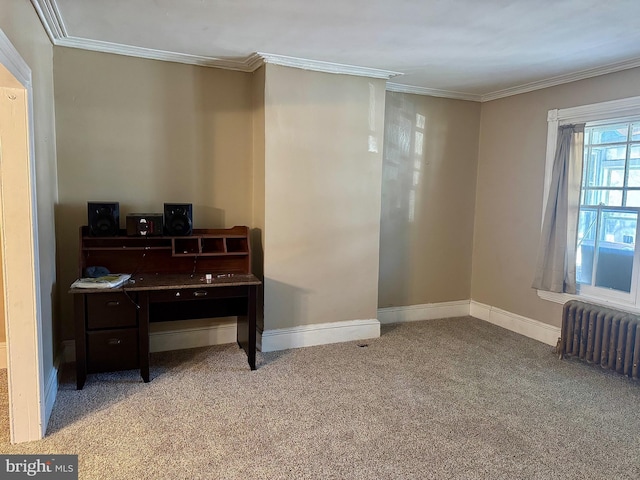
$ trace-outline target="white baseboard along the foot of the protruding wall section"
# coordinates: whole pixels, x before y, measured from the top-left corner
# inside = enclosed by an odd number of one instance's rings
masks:
[[[348,320],[265,330],[262,335],[259,335],[258,342],[261,351],[274,352],[289,348],[378,338],[379,336],[380,322],[378,320]]]

